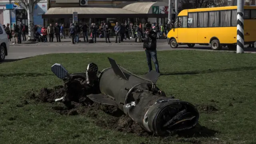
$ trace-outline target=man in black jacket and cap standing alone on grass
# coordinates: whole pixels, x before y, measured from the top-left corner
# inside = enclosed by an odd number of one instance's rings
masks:
[[[152,70],[152,64],[151,64],[151,58],[152,58],[156,67],[156,72],[160,73],[158,60],[156,56],[156,36],[157,36],[156,32],[152,31],[152,25],[150,23],[147,23],[143,48],[146,52],[148,69],[149,69],[149,72]]]

